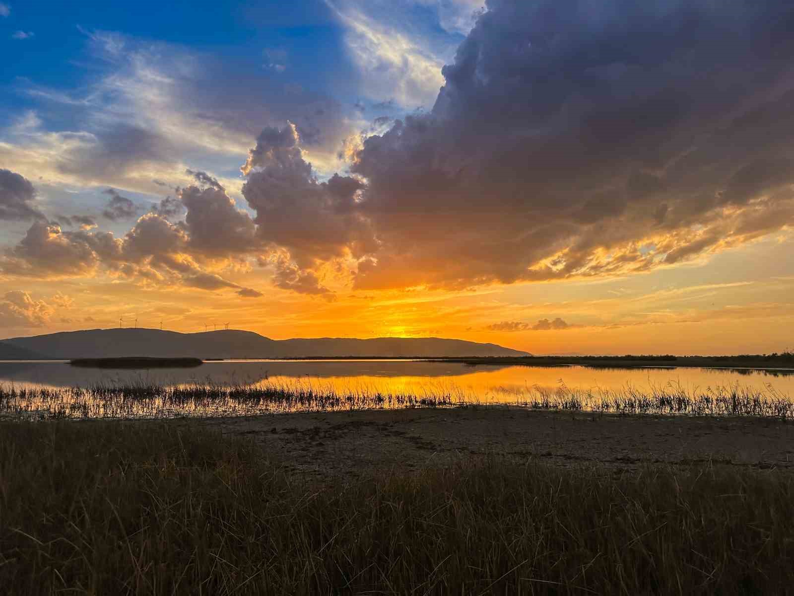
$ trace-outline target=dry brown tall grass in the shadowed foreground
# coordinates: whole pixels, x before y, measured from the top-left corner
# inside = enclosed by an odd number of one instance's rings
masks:
[[[317,488],[183,422],[0,424],[6,594],[778,594],[794,477],[499,459]]]

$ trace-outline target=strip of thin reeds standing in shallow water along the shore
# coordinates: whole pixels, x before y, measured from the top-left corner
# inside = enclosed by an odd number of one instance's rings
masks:
[[[384,392],[365,385],[340,390],[311,380],[183,385],[145,381],[89,387],[0,385],[0,416],[13,419],[172,418],[252,416],[279,412],[334,412],[372,408],[449,408],[512,404],[525,408],[623,415],[761,416],[794,418],[794,401],[772,385],[721,385],[688,389],[670,382],[622,389],[571,389],[533,385],[477,396],[454,385],[430,383],[421,391]]]

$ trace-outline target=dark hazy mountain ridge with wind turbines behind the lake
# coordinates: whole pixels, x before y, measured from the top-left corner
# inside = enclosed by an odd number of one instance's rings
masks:
[[[234,329],[178,333],[159,329],[90,329],[2,340],[11,346],[51,358],[310,358],[526,356],[495,343],[440,338],[270,339]]]

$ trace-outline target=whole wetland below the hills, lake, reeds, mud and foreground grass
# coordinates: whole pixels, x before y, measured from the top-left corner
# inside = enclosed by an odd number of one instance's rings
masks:
[[[785,372],[16,362],[0,380],[8,594],[794,585]]]

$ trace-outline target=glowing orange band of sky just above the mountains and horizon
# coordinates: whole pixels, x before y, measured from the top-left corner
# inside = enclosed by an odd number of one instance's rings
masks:
[[[245,300],[233,292],[143,288],[111,277],[27,281],[40,319],[7,328],[32,335],[125,326],[174,331],[247,329],[274,339],[290,337],[453,337],[499,343],[537,354],[770,352],[792,347],[794,238],[781,235],[703,257],[687,265],[599,281],[554,281],[468,288],[461,291],[345,291],[335,300],[264,288],[260,272],[231,277],[262,287]],[[335,285],[330,281],[330,285]],[[0,294],[16,284],[0,283]],[[568,327],[533,330],[542,319]],[[499,323],[520,323],[501,331]],[[491,330],[489,327],[494,327]],[[507,327],[507,326],[501,326]]]

